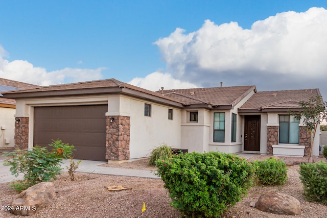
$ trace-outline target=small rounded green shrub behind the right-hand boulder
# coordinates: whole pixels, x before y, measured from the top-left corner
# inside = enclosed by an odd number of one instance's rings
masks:
[[[254,161],[257,166],[257,181],[261,185],[284,185],[287,182],[287,168],[282,160],[269,158],[264,161]]]

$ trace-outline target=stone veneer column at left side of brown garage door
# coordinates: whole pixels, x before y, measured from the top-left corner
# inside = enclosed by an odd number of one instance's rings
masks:
[[[29,117],[15,118],[15,148],[29,148]]]

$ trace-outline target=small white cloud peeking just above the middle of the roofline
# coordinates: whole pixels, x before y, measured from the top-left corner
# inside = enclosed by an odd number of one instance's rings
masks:
[[[165,89],[178,89],[178,88],[196,88],[197,86],[189,83],[182,82],[177,79],[172,78],[169,73],[163,72],[152,72],[145,78],[134,78],[130,82],[131,85],[142,87],[152,91],[158,91],[161,87]]]

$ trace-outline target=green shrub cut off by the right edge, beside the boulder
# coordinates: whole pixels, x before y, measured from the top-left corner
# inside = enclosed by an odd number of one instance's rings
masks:
[[[299,174],[307,200],[327,204],[327,163],[302,163]]]

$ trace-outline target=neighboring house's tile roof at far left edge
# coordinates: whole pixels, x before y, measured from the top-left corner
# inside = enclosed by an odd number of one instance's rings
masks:
[[[29,83],[22,83],[14,80],[0,78],[0,107],[15,108],[16,101],[13,99],[2,98],[2,92],[18,89],[29,89],[40,87]]]

